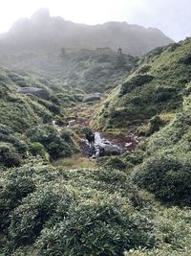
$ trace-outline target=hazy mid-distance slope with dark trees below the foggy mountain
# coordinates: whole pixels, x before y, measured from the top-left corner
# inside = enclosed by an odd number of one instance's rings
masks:
[[[87,93],[105,92],[116,87],[118,81],[137,66],[138,58],[110,48],[71,50],[60,47],[51,53],[36,50],[32,54],[17,53],[3,57],[6,65],[29,70],[43,77],[57,78],[72,88]]]

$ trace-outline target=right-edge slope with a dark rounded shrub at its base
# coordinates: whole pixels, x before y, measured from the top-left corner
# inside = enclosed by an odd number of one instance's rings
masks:
[[[191,206],[191,83],[183,109],[169,125],[149,138],[144,162],[133,175],[139,187],[170,203]]]

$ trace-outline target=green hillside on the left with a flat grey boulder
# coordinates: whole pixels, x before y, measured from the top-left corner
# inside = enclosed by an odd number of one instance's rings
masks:
[[[36,88],[41,94],[35,93]],[[63,86],[55,79],[0,67],[0,124],[22,133],[51,122],[63,107],[82,101],[83,95],[83,91]]]

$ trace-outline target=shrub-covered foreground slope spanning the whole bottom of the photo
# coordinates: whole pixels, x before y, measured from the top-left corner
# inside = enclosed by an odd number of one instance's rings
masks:
[[[3,255],[178,256],[191,251],[189,208],[160,205],[129,183],[126,172],[65,171],[34,160],[0,177]]]

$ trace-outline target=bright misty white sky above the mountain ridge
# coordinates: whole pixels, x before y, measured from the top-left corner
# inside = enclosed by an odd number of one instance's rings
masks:
[[[126,21],[159,28],[174,40],[191,36],[191,0],[0,0],[0,33],[39,8],[77,23]]]

